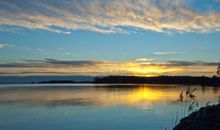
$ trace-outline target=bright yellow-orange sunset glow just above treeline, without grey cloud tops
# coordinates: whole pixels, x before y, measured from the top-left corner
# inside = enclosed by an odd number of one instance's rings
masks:
[[[28,64],[28,63],[26,63]],[[40,64],[41,67],[38,67]],[[29,65],[29,64],[28,64]],[[69,64],[33,63],[36,67],[2,68],[4,75],[213,75],[215,66],[169,66],[152,59],[139,58],[124,62],[101,61],[92,65],[74,66]],[[1,74],[0,74],[1,75]]]

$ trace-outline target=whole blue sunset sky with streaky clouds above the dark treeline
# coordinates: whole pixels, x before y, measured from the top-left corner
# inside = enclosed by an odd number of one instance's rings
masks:
[[[0,0],[0,76],[212,76],[220,0]]]

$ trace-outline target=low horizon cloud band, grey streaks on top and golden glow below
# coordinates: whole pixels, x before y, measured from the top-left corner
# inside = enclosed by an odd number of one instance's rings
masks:
[[[56,59],[1,62],[0,75],[213,75],[217,62],[166,61],[148,58],[129,61],[64,61]]]

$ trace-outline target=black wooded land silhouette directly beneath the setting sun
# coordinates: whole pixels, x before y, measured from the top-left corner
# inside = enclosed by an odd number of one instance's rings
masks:
[[[107,76],[95,78],[93,83],[126,83],[126,84],[181,84],[181,85],[202,85],[219,86],[220,77],[193,77],[193,76],[157,76],[157,77],[137,77],[137,76]]]

